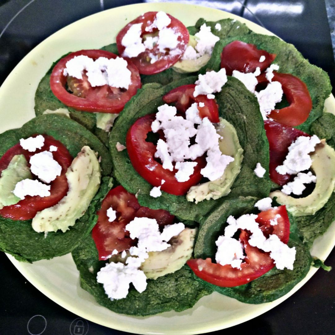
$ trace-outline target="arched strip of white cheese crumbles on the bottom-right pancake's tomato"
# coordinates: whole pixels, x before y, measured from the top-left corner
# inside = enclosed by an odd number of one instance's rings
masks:
[[[287,269],[292,270],[293,262],[295,260],[295,247],[289,248],[279,240],[277,235],[274,234],[270,235],[267,239],[263,235],[258,223],[255,221],[256,218],[257,215],[255,214],[245,214],[238,219],[229,216],[227,219],[228,226],[224,229],[224,236],[231,238],[238,229],[249,230],[252,235],[250,236],[248,243],[251,246],[257,247],[265,252],[270,252],[270,257],[274,260],[278,269],[283,270],[286,267]],[[235,262],[237,262],[237,260],[235,260]]]

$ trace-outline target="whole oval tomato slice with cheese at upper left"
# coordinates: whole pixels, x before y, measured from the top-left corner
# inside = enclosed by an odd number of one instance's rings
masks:
[[[57,99],[63,104],[77,111],[119,113],[130,98],[141,87],[141,78],[136,66],[127,59],[127,68],[131,71],[131,84],[128,89],[111,87],[108,85],[91,87],[84,73],[83,79],[64,76],[66,63],[75,56],[88,56],[93,60],[99,57],[108,59],[119,57],[104,50],[81,50],[62,58],[53,68],[50,77],[50,87]],[[72,90],[70,93],[66,87]]]

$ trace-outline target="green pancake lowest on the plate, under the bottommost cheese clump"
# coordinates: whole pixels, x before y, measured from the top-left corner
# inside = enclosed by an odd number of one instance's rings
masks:
[[[175,273],[156,280],[148,279],[147,288],[142,293],[131,287],[126,298],[111,300],[103,285],[96,281],[97,272],[106,262],[98,261],[98,252],[91,236],[72,252],[72,257],[80,272],[80,286],[91,293],[100,305],[117,313],[145,316],[171,310],[180,312],[191,308],[202,296],[213,291],[195,280],[192,270],[184,265]]]

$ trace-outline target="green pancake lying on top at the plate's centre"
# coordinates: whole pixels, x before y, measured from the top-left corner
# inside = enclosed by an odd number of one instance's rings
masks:
[[[138,201],[142,206],[165,209],[180,219],[201,222],[209,212],[219,207],[226,197],[198,204],[187,201],[185,196],[165,192],[162,192],[160,197],[153,198],[149,195],[152,186],[135,171],[127,150],[117,151],[115,147],[117,142],[126,143],[127,131],[138,118],[157,111],[157,107],[163,104],[161,97],[164,94],[174,87],[192,83],[194,80],[194,77],[189,77],[164,87],[159,84],[144,85],[116,119],[110,133],[109,146],[116,179],[127,191],[138,194]],[[241,194],[246,197],[267,197],[270,192],[268,174],[264,178],[258,178],[253,171],[257,162],[262,166],[269,165],[269,146],[256,98],[239,80],[229,78],[222,91],[216,95],[216,100],[220,116],[235,127],[244,150],[241,172],[231,186],[228,197],[234,198]]]

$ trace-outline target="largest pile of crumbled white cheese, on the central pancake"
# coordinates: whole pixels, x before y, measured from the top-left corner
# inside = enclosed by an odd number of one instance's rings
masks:
[[[208,118],[199,117],[196,103],[186,111],[186,119],[176,116],[176,113],[175,107],[166,104],[158,107],[156,120],[152,122],[151,129],[153,132],[162,129],[166,142],[158,140],[155,157],[160,158],[163,168],[170,171],[173,171],[173,162],[178,162],[176,168],[187,166],[188,175],[192,164],[180,163],[184,163],[186,159],[194,160],[207,152],[207,165],[201,170],[201,174],[211,181],[221,177],[226,166],[234,159],[222,155],[218,143],[220,135],[216,133],[214,125]],[[195,124],[199,125],[197,129]],[[195,135],[195,144],[190,145],[190,139]],[[186,179],[184,172],[178,171],[176,178],[179,181],[186,181],[189,175]]]

